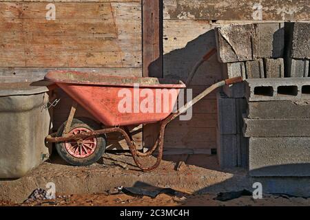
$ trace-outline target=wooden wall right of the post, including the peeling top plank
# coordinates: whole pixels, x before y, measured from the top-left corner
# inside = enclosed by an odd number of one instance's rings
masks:
[[[186,80],[190,70],[208,50],[216,47],[214,28],[228,23],[261,22],[258,1],[163,0],[163,75]],[[264,21],[309,20],[309,1],[259,1]],[[221,80],[221,65],[213,56],[198,70],[190,88],[194,96]],[[166,148],[216,148],[215,92],[193,108],[189,121],[175,120],[166,130]],[[204,151],[200,151],[204,152]],[[206,151],[208,152],[208,151]]]

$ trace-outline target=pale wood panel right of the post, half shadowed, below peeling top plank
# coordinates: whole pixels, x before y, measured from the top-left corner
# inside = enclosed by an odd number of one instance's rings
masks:
[[[205,53],[216,47],[214,26],[209,21],[164,20],[164,76],[185,81],[192,67]],[[221,79],[216,56],[203,64],[194,76],[190,89],[198,95]],[[168,148],[216,148],[216,92],[194,105],[192,120],[176,119],[167,126]]]

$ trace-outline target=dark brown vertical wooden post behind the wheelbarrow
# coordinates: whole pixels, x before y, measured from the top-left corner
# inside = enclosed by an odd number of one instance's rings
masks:
[[[163,77],[163,0],[142,0],[143,76]],[[143,126],[143,146],[151,147],[158,124]]]

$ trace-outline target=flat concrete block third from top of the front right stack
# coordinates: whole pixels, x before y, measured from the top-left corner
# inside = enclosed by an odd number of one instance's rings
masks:
[[[310,134],[310,118],[244,120],[245,137],[307,137]]]

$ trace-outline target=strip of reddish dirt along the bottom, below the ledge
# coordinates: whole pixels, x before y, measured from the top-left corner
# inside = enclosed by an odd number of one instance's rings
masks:
[[[56,199],[39,200],[30,203],[0,202],[1,206],[309,206],[310,199],[301,197],[282,197],[267,195],[262,199],[253,199],[250,196],[232,199],[230,201],[217,201],[216,194],[171,196],[161,194],[156,198],[133,197],[130,195],[58,195]]]

